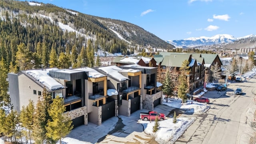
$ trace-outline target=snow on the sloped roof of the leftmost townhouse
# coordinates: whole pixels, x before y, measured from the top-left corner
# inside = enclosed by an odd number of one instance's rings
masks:
[[[36,80],[44,84],[50,90],[64,88],[62,84],[58,83],[54,78],[49,76],[50,70],[58,70],[58,68],[48,68],[46,70],[27,70],[26,73],[33,76]]]

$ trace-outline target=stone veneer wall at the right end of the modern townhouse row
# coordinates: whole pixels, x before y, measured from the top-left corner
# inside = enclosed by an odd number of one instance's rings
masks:
[[[158,98],[161,98],[160,104],[162,104],[162,91],[152,95],[146,94],[146,99],[143,101],[143,108],[147,110],[154,110],[154,101]]]

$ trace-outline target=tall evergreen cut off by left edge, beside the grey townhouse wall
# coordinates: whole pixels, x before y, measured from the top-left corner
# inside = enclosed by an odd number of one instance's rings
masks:
[[[7,94],[8,91],[8,82],[6,81],[8,74],[8,68],[6,66],[6,62],[2,57],[0,63],[0,102],[6,100],[9,97]]]

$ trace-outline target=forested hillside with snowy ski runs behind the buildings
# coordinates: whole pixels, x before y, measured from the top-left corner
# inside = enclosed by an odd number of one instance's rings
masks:
[[[126,55],[134,49],[173,48],[134,24],[52,4],[3,0],[0,16],[0,56],[18,70],[92,67],[98,50]]]

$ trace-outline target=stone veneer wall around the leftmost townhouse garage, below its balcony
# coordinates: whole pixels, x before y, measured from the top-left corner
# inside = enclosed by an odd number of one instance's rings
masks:
[[[65,112],[64,115],[68,116],[71,120],[84,115],[84,125],[88,124],[88,116],[87,116],[87,112],[86,112],[86,106]]]

